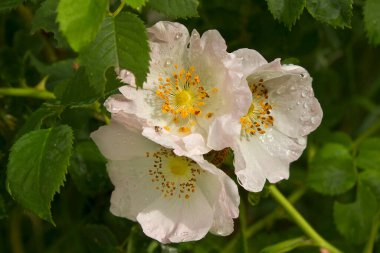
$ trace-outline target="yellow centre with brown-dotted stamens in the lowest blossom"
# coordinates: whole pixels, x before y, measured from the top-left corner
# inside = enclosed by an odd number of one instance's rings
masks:
[[[165,198],[189,199],[196,191],[197,177],[204,172],[196,162],[184,156],[176,156],[166,148],[147,152],[146,157],[154,159],[149,176]]]

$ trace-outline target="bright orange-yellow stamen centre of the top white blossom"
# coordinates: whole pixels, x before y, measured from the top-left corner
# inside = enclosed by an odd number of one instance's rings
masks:
[[[210,96],[217,93],[218,89],[207,91],[193,66],[188,70],[179,70],[175,64],[172,75],[165,79],[159,77],[158,81],[156,95],[161,101],[161,112],[169,115],[170,124],[174,124],[178,132],[190,133],[196,124],[196,118],[210,119],[214,115],[213,112],[203,111],[207,109]],[[166,130],[170,129],[169,126],[163,127]]]

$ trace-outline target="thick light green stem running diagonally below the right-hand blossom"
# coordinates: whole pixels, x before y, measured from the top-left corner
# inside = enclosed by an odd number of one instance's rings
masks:
[[[302,215],[294,208],[294,206],[282,195],[276,186],[269,186],[270,195],[285,209],[285,211],[293,218],[294,222],[314,240],[321,248],[327,249],[330,253],[342,253],[325,239],[323,239],[310,224],[302,217]]]

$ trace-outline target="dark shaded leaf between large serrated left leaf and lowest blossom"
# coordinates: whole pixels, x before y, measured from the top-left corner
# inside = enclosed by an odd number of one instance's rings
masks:
[[[94,196],[112,189],[106,162],[94,142],[79,142],[75,146],[69,173],[80,192]]]

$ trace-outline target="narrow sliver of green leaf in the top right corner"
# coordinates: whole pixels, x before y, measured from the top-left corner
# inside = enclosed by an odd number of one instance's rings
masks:
[[[364,3],[364,27],[370,43],[380,44],[380,1],[366,0]]]

